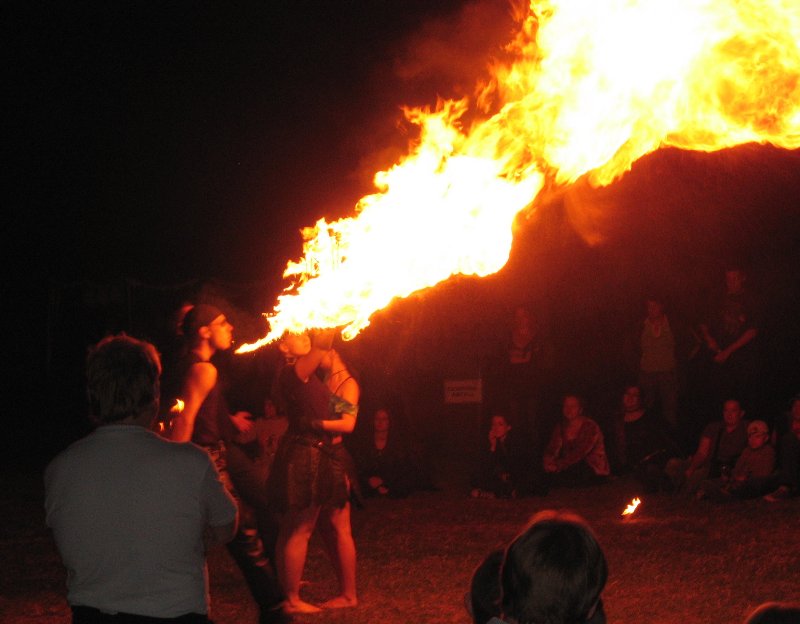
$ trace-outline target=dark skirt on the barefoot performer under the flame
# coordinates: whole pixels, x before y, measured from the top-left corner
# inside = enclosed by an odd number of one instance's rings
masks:
[[[352,466],[343,444],[286,434],[267,482],[270,505],[278,512],[316,506],[342,508],[350,498]]]

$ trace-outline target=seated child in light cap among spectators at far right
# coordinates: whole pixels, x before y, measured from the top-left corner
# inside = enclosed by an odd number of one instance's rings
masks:
[[[769,443],[769,427],[763,420],[754,420],[747,426],[747,448],[739,455],[730,476],[703,481],[696,498],[758,498],[768,491],[774,470],[775,449]]]

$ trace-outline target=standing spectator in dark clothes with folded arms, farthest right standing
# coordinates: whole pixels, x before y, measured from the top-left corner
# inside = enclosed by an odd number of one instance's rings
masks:
[[[712,357],[714,401],[738,396],[749,409],[757,410],[760,320],[746,280],[740,267],[726,269],[725,292],[711,305],[700,333]]]

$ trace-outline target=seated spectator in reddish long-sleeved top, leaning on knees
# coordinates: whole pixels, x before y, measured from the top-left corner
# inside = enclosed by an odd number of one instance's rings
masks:
[[[584,414],[580,397],[564,397],[562,419],[553,429],[542,465],[551,486],[592,485],[611,473],[603,433]]]

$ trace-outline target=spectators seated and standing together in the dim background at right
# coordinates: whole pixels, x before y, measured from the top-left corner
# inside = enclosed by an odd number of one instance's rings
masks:
[[[545,400],[552,347],[536,315],[518,307],[488,376],[488,440],[475,453],[471,495],[543,495],[626,473],[647,492],[713,501],[796,495],[800,397],[787,413],[763,400],[760,320],[745,284],[730,266],[694,330],[670,318],[661,297],[646,297],[625,340],[631,381],[608,389],[616,407],[592,413],[569,390],[555,419]]]

